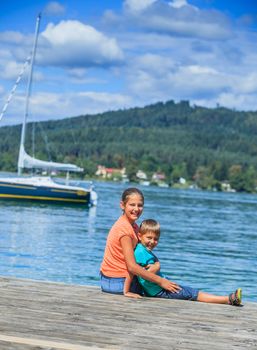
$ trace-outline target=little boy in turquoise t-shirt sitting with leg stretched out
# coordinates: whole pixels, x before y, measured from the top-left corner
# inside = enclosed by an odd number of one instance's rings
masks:
[[[160,271],[160,262],[152,252],[152,250],[157,246],[160,238],[159,223],[152,219],[144,220],[140,225],[138,237],[140,243],[138,243],[134,252],[136,262],[145,269],[162,276]],[[132,277],[133,276],[130,275],[125,281],[124,295],[127,297],[139,298],[140,296],[137,294],[129,292]],[[213,295],[187,286],[180,286],[181,289],[177,292],[169,292],[162,289],[155,283],[149,282],[139,276],[137,278],[143,287],[145,295],[150,297],[194,300],[206,303],[230,304],[235,306],[241,305],[242,301],[241,288],[237,289],[229,296]]]

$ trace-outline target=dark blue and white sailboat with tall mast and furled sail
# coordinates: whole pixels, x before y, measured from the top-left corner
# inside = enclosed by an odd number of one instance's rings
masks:
[[[15,177],[0,178],[0,199],[32,200],[44,202],[83,204],[87,206],[96,205],[97,194],[93,190],[92,183],[87,188],[84,186],[75,186],[69,182],[70,172],[82,172],[83,169],[74,164],[63,164],[49,162],[31,157],[25,151],[26,124],[29,110],[29,98],[31,93],[31,84],[33,77],[33,66],[37,49],[41,15],[36,21],[35,37],[32,55],[29,58],[30,73],[27,83],[27,95],[25,104],[25,113],[22,123],[21,140],[18,158],[18,175]],[[17,83],[17,82],[16,82]],[[7,105],[4,110],[6,110]],[[3,114],[3,113],[2,113]],[[1,115],[2,116],[2,115]],[[0,118],[1,119],[1,118]],[[40,171],[64,171],[66,172],[66,183],[58,183],[50,176],[23,176],[24,169],[37,169]]]

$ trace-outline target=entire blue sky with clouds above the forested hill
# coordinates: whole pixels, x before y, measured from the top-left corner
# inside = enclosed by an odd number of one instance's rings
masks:
[[[257,0],[0,0],[0,113],[39,13],[31,121],[168,100],[257,111]],[[27,79],[0,126],[22,122]]]

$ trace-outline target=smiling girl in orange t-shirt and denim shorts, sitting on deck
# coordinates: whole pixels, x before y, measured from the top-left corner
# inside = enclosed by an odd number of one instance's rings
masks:
[[[134,258],[134,249],[138,243],[138,226],[136,220],[144,207],[143,193],[137,188],[128,188],[122,194],[121,217],[115,222],[107,237],[103,262],[101,264],[101,289],[103,292],[123,294],[125,279],[134,275],[158,284],[162,289],[177,293],[180,287],[161,276],[139,266]],[[137,279],[131,284],[127,296],[140,298]]]

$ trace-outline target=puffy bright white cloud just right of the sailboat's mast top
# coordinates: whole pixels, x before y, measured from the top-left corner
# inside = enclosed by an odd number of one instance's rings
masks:
[[[41,35],[49,44],[40,52],[39,61],[44,64],[81,68],[123,60],[123,52],[114,38],[78,21],[48,24]]]

